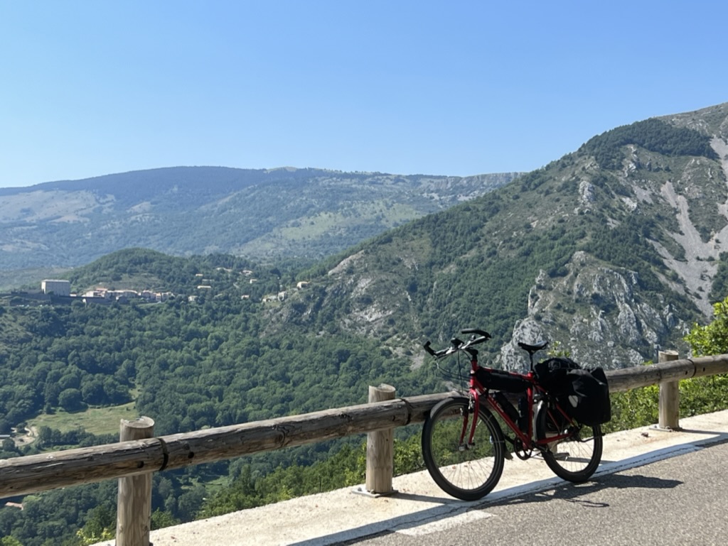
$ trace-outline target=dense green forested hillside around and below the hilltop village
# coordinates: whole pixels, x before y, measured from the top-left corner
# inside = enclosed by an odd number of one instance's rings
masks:
[[[307,288],[296,289],[290,273],[248,268],[255,266],[232,256],[131,249],[76,270],[74,286],[154,279],[175,292],[170,300],[94,305],[79,297],[33,306],[23,305],[23,294],[9,294],[6,302],[16,305],[0,308],[1,428],[39,411],[133,398],[165,434],[351,404],[365,398],[371,382],[393,377],[408,392],[435,386],[376,339],[295,324],[267,333],[266,312],[281,302],[263,304],[264,295],[285,292],[286,283],[288,292]],[[212,286],[198,288],[200,278]]]

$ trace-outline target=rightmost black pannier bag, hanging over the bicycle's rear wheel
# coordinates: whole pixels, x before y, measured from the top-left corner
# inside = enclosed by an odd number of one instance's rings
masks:
[[[609,385],[601,368],[572,369],[566,373],[569,391],[558,396],[558,404],[582,425],[601,425],[612,419]]]

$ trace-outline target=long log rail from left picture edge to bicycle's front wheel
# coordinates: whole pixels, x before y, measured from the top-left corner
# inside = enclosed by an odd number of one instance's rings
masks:
[[[0,460],[0,498],[422,422],[448,393]]]

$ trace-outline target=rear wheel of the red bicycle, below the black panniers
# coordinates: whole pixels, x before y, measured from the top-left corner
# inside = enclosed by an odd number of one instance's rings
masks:
[[[566,481],[581,483],[587,481],[601,462],[603,448],[601,427],[582,425],[573,430],[571,437],[550,443],[542,451],[548,467]],[[536,417],[536,438],[544,440],[557,433],[566,433],[573,427],[560,414],[558,409],[542,404]]]

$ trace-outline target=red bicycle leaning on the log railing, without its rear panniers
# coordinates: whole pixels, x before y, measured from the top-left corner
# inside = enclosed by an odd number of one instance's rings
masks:
[[[470,360],[467,393],[433,407],[422,430],[422,454],[435,483],[452,497],[480,499],[498,483],[505,459],[513,458],[509,448],[521,459],[541,456],[564,480],[589,479],[601,462],[601,427],[571,417],[566,404],[537,380],[534,353],[548,342],[518,343],[531,362],[528,373],[518,374],[478,364],[473,346],[488,340],[488,332],[464,329],[462,333],[471,334],[470,339],[453,339],[443,350],[433,350],[429,341],[424,345],[438,360],[456,353],[467,354]],[[511,402],[514,396],[516,406]]]

